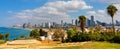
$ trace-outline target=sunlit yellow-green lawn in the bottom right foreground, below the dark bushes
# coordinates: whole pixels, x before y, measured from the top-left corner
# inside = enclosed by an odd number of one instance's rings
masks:
[[[54,49],[120,49],[120,44],[108,42],[90,42],[81,46],[54,48]]]

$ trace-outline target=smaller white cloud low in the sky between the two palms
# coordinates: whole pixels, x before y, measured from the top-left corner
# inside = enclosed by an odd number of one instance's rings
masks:
[[[95,17],[95,20],[99,20],[101,22],[111,22],[109,20],[111,20],[111,18],[107,15],[105,10],[97,10],[97,11],[89,11],[91,13],[94,12],[93,16]],[[88,18],[90,18],[91,13],[88,13]]]

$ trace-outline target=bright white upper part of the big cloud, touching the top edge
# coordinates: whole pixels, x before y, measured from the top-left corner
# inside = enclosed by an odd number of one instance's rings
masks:
[[[74,12],[78,10],[91,9],[92,6],[86,4],[83,0],[56,1],[45,4],[47,7],[57,8],[59,11]]]

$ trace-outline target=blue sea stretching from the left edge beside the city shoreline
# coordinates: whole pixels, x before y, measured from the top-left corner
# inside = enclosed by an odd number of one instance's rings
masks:
[[[13,40],[15,38],[20,38],[20,36],[25,36],[26,38],[30,35],[29,29],[24,28],[10,28],[10,27],[0,27],[0,34],[9,33],[9,40]]]

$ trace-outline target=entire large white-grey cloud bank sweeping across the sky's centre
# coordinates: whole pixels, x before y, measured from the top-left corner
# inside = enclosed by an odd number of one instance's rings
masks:
[[[60,22],[69,21],[68,12],[91,9],[92,6],[86,4],[83,0],[54,1],[47,2],[44,6],[33,10],[23,10],[13,15],[16,21],[23,22]],[[20,22],[19,21],[19,22]]]

